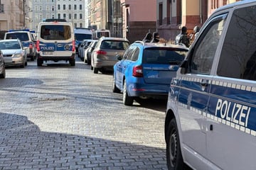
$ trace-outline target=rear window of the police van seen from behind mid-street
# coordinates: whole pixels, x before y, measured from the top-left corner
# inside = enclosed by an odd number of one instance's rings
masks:
[[[40,37],[44,40],[69,40],[71,28],[70,26],[42,26]]]

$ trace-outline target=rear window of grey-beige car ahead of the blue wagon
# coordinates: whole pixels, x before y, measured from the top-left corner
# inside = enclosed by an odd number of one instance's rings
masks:
[[[117,41],[117,40],[104,40],[100,45],[100,48],[110,49],[110,50],[127,50],[128,47],[129,47],[129,42]]]

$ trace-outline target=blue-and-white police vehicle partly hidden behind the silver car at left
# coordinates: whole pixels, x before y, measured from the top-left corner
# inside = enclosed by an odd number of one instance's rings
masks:
[[[21,40],[23,47],[27,47],[26,53],[31,61],[36,59],[36,40],[33,39],[33,35],[30,30],[9,30],[9,32],[5,33],[4,39]]]

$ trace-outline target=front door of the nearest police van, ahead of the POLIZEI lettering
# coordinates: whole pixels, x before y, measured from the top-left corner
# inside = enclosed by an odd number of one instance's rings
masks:
[[[223,17],[213,18],[203,28],[198,40],[193,43],[186,64],[187,70],[179,80],[178,95],[181,135],[185,153],[184,157],[196,153],[198,159],[190,162],[192,166],[201,164],[200,157],[206,158],[206,115],[208,114],[208,100],[210,83],[213,81],[213,61],[218,54],[219,36],[218,26],[223,26]],[[183,63],[183,64],[184,64]],[[183,72],[182,71],[182,72]]]

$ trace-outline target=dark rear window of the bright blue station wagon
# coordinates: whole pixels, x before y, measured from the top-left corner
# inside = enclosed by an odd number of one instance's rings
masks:
[[[180,64],[186,57],[187,50],[166,48],[145,49],[142,62],[145,64]]]

